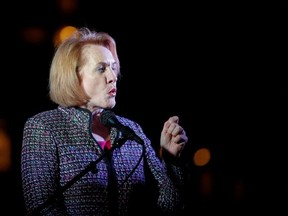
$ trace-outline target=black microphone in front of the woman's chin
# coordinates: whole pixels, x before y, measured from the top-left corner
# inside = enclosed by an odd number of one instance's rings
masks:
[[[111,110],[103,110],[101,112],[100,122],[104,126],[117,128],[126,138],[134,140],[139,144],[144,144],[144,141],[139,136],[137,136],[137,134],[135,134],[135,132],[130,127],[125,126],[118,121],[115,114]]]

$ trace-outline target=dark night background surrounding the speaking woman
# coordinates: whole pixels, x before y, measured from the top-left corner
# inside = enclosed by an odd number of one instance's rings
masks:
[[[286,1],[87,0],[66,13],[59,2],[1,6],[0,117],[13,152],[12,169],[1,173],[1,215],[24,215],[23,125],[55,107],[48,74],[53,35],[65,25],[115,38],[123,74],[115,112],[139,122],[156,150],[164,121],[180,117],[189,137],[187,215],[287,211]],[[43,37],[32,43],[27,28],[42,29]],[[211,150],[211,161],[197,167],[192,157],[202,147]],[[207,173],[208,195],[200,189]]]

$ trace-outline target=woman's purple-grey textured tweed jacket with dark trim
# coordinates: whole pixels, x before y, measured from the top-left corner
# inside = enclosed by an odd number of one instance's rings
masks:
[[[117,118],[121,124],[133,129],[143,139],[144,145],[123,139],[122,134],[112,128],[111,146],[119,146],[112,155],[101,160],[104,150],[92,136],[90,111],[58,107],[27,120],[21,170],[28,212],[35,212],[38,208],[41,215],[108,216],[112,210],[109,197],[113,197],[111,202],[117,202],[114,210],[120,216],[149,213],[148,209],[154,211],[151,208],[153,201],[159,213],[165,215],[182,208],[182,167],[160,160],[137,123],[124,117]],[[121,143],[122,140],[125,143]],[[89,164],[96,164],[95,168],[89,169],[57,198],[45,203]],[[149,182],[155,182],[157,188]],[[151,195],[151,199],[147,195]]]

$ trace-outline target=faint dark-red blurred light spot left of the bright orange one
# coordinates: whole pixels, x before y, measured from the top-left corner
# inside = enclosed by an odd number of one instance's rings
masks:
[[[40,44],[45,41],[46,32],[42,28],[29,27],[22,31],[23,38],[32,44]]]

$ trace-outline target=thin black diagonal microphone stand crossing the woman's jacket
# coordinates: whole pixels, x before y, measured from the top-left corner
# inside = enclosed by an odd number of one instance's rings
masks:
[[[96,165],[106,156],[112,153],[114,149],[120,148],[125,142],[127,138],[122,137],[117,140],[117,143],[113,145],[109,150],[103,151],[103,153],[97,158],[97,160],[90,162],[84,170],[74,176],[70,181],[68,181],[64,186],[60,187],[60,189],[56,190],[52,196],[50,196],[44,203],[39,205],[37,208],[33,209],[32,211],[28,212],[26,216],[39,216],[40,211],[47,207],[49,204],[52,204],[57,198],[68,188],[70,188],[74,183],[76,183],[79,179],[81,179],[85,174],[88,172],[96,173],[97,167]]]

